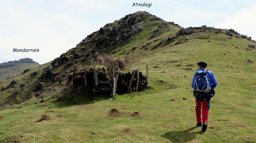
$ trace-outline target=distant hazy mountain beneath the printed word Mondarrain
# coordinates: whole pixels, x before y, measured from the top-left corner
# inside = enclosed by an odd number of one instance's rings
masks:
[[[29,58],[1,63],[0,81],[18,75],[28,68],[37,67],[39,65],[39,63]]]

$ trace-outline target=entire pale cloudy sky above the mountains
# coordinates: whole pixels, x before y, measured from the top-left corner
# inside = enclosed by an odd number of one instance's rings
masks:
[[[134,7],[134,2],[152,6]],[[21,58],[40,64],[52,61],[105,24],[136,11],[184,28],[232,28],[256,40],[254,0],[0,0],[0,63]]]

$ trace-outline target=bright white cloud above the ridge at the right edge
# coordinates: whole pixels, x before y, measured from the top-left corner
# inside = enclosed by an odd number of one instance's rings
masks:
[[[252,4],[242,10],[238,10],[234,15],[225,20],[215,23],[215,28],[234,29],[240,34],[251,36],[256,40],[256,4]]]

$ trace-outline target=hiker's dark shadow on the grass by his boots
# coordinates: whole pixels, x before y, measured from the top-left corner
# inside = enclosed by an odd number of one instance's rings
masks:
[[[195,139],[196,135],[198,135],[198,134],[202,135],[205,133],[202,130],[196,131],[196,132],[190,132],[198,127],[199,126],[195,126],[195,127],[189,128],[184,131],[167,132],[164,135],[162,135],[162,137],[169,139],[171,142],[175,142],[175,143],[183,143],[183,142],[191,141],[191,140]]]

